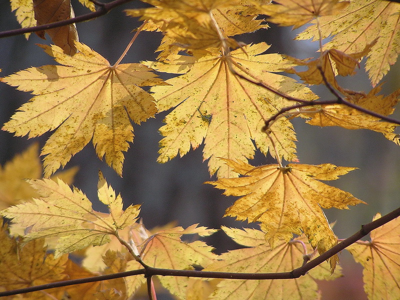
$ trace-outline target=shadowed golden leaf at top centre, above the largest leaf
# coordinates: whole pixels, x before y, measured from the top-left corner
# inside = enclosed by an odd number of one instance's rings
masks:
[[[171,49],[218,49],[226,43],[239,44],[228,36],[252,32],[267,25],[257,17],[254,1],[249,0],[146,0],[154,7],[127,9],[130,16],[150,20],[145,30],[165,34],[158,51]],[[166,42],[167,41],[167,42]],[[161,54],[162,55],[162,54]]]

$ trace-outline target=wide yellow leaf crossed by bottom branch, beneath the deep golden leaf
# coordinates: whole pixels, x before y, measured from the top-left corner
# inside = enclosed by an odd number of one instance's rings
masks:
[[[230,250],[222,253],[219,261],[216,261],[204,270],[227,271],[227,272],[287,272],[303,263],[303,246],[307,253],[313,249],[302,235],[289,242],[279,240],[276,247],[271,249],[265,244],[264,232],[256,229],[245,228],[244,230],[222,227],[237,243],[250,246]],[[238,232],[238,231],[241,231]],[[243,239],[244,237],[244,239]],[[248,242],[252,239],[251,242]],[[332,280],[340,276],[340,271],[331,275],[330,269],[325,264],[320,264],[308,271],[304,276],[295,279],[276,280],[221,280],[214,290],[210,299],[212,300],[301,300],[317,299],[320,296],[316,279]]]

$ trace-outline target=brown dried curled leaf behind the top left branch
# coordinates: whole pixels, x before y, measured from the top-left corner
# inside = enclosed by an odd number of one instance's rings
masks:
[[[67,20],[75,16],[70,0],[33,0],[33,10],[37,25]],[[75,24],[36,32],[39,37],[45,39],[44,33],[47,33],[52,42],[59,46],[65,54],[77,53],[75,41],[78,40],[78,33]]]

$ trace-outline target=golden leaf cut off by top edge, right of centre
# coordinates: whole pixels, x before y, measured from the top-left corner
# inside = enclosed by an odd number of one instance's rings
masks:
[[[274,0],[278,4],[260,5],[260,13],[269,15],[268,21],[281,26],[298,28],[312,19],[337,14],[349,1],[339,0]]]

